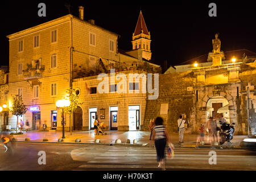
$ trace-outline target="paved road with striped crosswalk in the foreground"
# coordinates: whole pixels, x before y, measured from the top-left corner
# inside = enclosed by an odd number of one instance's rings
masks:
[[[16,143],[15,154],[0,146],[0,170],[158,171],[152,147]],[[217,165],[209,164],[209,151],[216,151]],[[46,165],[38,164],[38,152],[46,152]],[[253,170],[256,153],[245,150],[176,148],[167,170]]]

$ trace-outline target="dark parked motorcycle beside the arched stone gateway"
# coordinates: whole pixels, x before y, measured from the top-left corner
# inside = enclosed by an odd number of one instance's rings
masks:
[[[232,123],[230,125],[229,123],[223,123],[220,128],[220,144],[224,144],[225,142],[231,143],[230,141],[234,137],[234,125],[235,123]]]

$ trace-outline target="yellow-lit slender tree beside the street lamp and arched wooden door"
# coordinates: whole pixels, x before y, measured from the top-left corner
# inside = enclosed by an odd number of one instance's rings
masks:
[[[72,126],[71,126],[71,114],[77,109],[77,107],[79,106],[79,94],[75,93],[76,90],[73,89],[72,87],[67,89],[67,100],[70,101],[70,105],[68,107],[64,107],[64,113],[68,113],[69,114],[69,120],[70,120],[70,132],[72,135]]]

